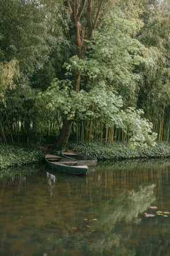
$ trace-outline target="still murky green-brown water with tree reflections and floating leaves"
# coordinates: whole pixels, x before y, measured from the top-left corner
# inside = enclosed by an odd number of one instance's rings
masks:
[[[167,256],[170,214],[157,211],[170,212],[170,160],[100,164],[85,177],[44,165],[6,170],[0,255]]]

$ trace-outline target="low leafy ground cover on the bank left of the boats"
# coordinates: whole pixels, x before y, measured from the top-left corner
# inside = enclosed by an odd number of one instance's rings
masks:
[[[41,150],[35,146],[0,145],[0,169],[34,164],[42,159]]]

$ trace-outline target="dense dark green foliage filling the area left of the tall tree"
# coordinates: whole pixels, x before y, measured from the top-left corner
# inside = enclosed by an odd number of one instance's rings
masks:
[[[50,130],[35,96],[70,56],[69,20],[63,1],[1,1],[0,143],[39,142]]]

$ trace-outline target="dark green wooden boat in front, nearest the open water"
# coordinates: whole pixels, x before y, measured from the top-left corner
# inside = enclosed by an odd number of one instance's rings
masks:
[[[88,166],[85,164],[65,157],[47,154],[45,155],[45,160],[48,166],[53,168],[53,170],[59,170],[59,172],[74,175],[85,175],[88,171]]]

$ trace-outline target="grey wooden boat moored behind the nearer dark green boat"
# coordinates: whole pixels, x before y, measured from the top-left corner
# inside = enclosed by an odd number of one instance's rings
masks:
[[[68,159],[73,159],[74,161],[81,162],[82,164],[88,165],[88,166],[95,166],[97,165],[97,159],[90,157],[89,155],[69,152],[69,151],[63,151],[62,156],[66,157]]]

